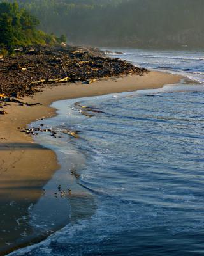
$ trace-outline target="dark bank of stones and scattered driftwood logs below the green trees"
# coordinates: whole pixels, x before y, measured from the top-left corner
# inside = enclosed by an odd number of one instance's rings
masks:
[[[97,48],[33,47],[15,49],[14,56],[0,58],[0,94],[31,95],[43,84],[82,81],[138,74],[147,70],[120,59],[105,58]]]

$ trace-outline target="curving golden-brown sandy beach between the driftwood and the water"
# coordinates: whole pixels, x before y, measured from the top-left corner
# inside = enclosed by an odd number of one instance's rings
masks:
[[[55,109],[50,104],[57,100],[161,88],[164,84],[178,83],[182,78],[164,72],[149,72],[145,76],[103,79],[92,84],[59,84],[57,87],[42,88],[42,92],[33,97],[20,99],[29,103],[40,102],[41,106],[8,103],[9,106],[5,108],[8,115],[0,116],[0,234],[4,236],[4,239],[0,236],[0,254],[5,245],[9,250],[17,245],[4,244],[5,241],[13,242],[22,237],[20,227],[11,233],[4,231],[12,230],[17,225],[17,216],[27,214],[27,207],[38,201],[43,193],[43,186],[60,167],[52,150],[34,143],[33,138],[19,132],[19,128],[26,127],[38,118],[55,115]]]

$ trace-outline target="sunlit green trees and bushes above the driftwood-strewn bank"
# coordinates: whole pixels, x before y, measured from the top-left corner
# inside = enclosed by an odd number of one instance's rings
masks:
[[[54,44],[57,40],[65,40],[64,36],[55,38],[36,29],[38,25],[38,19],[24,8],[19,8],[18,3],[0,3],[1,47],[10,50],[15,46]]]

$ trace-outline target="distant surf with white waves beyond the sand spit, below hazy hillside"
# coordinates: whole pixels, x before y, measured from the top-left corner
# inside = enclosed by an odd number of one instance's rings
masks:
[[[131,63],[153,70],[168,71],[182,74],[190,79],[204,83],[204,52],[203,51],[157,51],[140,49],[117,49],[124,54],[115,54],[115,58],[122,58]]]

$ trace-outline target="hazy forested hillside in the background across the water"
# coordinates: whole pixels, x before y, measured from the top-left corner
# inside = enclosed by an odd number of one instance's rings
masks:
[[[203,48],[203,0],[18,0],[40,29],[101,47]]]

